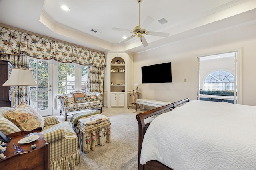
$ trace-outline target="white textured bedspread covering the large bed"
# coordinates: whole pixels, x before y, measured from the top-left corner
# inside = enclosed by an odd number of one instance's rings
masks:
[[[256,106],[190,101],[156,117],[140,163],[174,170],[256,170]]]

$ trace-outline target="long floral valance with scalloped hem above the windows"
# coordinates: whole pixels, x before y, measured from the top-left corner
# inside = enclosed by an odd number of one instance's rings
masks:
[[[11,55],[26,52],[37,59],[106,67],[102,53],[4,27],[0,27],[0,52]]]

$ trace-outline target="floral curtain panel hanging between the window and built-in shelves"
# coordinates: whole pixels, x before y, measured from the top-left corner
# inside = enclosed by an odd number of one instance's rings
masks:
[[[103,92],[104,68],[95,66],[88,67],[88,83],[89,92]]]

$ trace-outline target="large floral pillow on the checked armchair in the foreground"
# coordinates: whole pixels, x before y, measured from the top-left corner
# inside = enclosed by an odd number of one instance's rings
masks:
[[[43,117],[31,106],[21,102],[13,111],[7,113],[7,119],[20,130],[29,131],[44,126]]]

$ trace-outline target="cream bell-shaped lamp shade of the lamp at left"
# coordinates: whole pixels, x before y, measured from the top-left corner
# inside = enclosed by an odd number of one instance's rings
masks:
[[[12,68],[8,80],[3,86],[38,86],[34,80],[32,70]]]

